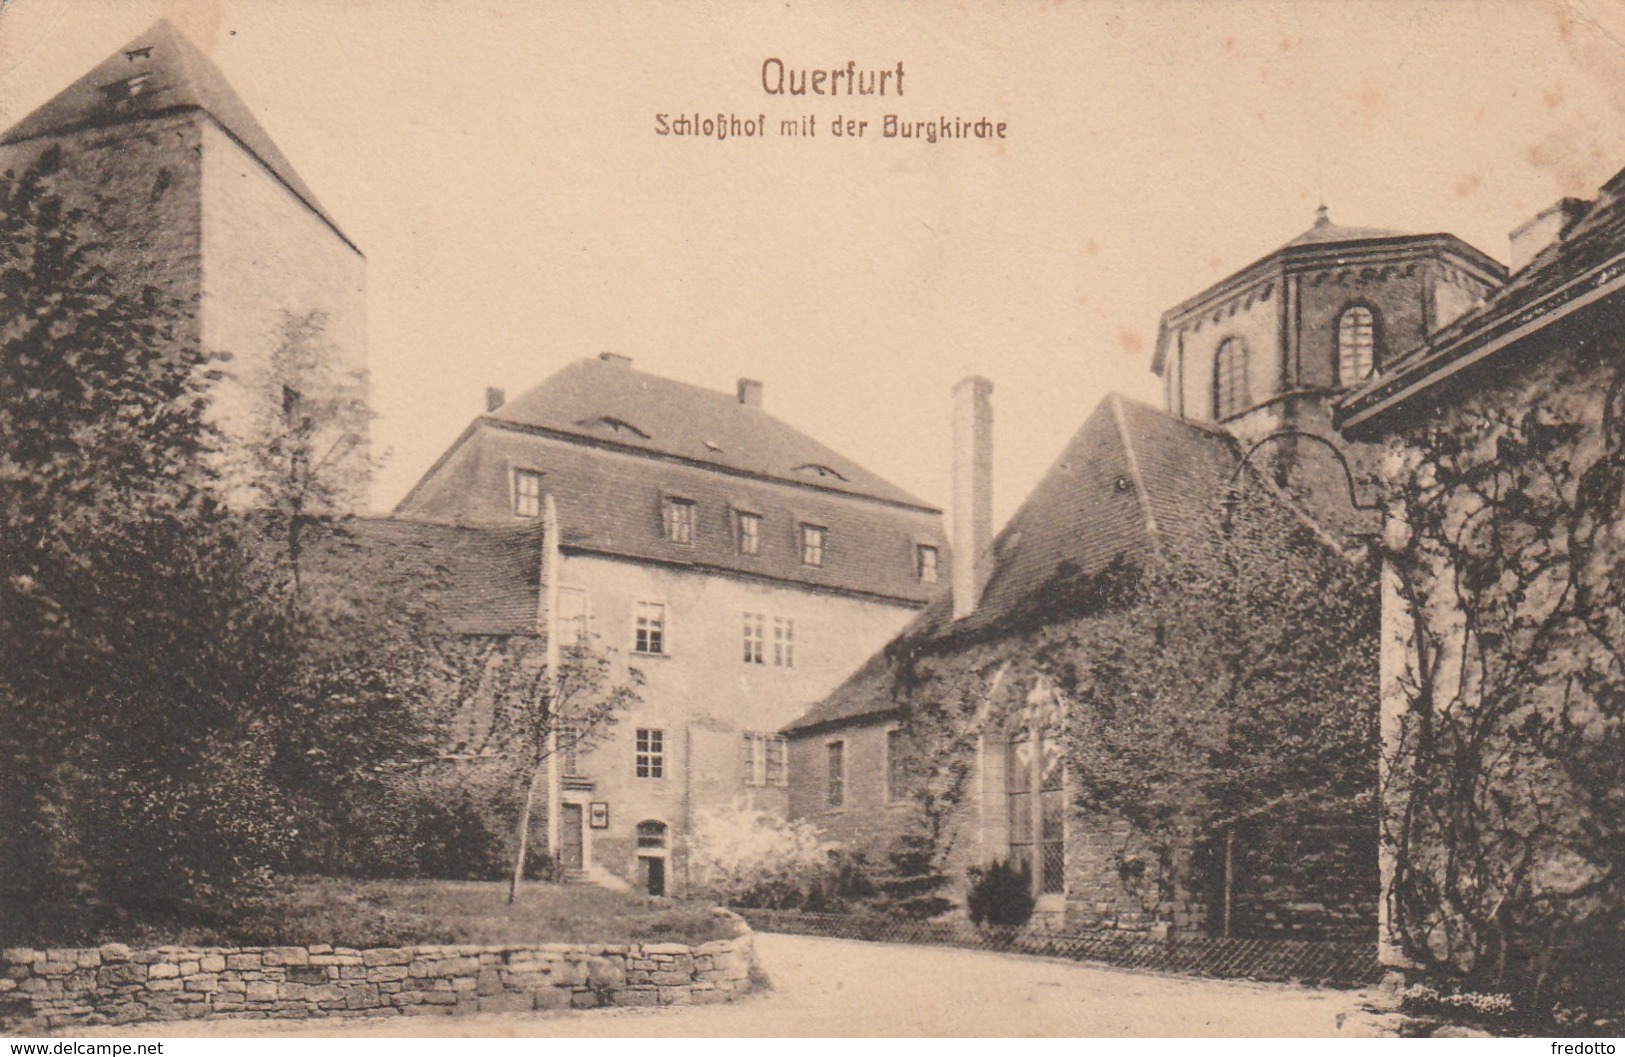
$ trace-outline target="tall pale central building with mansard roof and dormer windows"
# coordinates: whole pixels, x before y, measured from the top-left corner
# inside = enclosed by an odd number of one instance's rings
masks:
[[[546,631],[645,680],[592,748],[554,755],[552,839],[567,868],[652,893],[686,890],[705,813],[785,813],[780,727],[951,576],[941,512],[769,415],[760,382],[608,353],[492,390],[395,517],[500,530],[549,507]]]

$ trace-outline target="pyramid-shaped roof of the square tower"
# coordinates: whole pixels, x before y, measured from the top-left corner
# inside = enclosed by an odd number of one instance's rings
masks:
[[[146,75],[138,91],[117,94],[109,91],[138,75]],[[115,125],[174,111],[203,111],[211,115],[338,231],[315,194],[299,179],[292,164],[254,119],[219,68],[164,20],[153,23],[146,33],[11,125],[0,135],[0,143],[21,143],[44,135]]]

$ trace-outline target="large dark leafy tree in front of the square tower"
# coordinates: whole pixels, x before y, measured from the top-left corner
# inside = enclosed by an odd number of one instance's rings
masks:
[[[83,237],[60,166],[0,177],[0,868],[23,922],[206,903],[286,837],[258,782],[286,626],[216,488],[218,364],[193,304]]]

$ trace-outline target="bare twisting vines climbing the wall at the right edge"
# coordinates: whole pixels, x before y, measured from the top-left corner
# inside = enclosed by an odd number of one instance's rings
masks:
[[[1386,559],[1389,920],[1414,963],[1617,1002],[1625,958],[1625,381],[1565,351],[1406,431]]]

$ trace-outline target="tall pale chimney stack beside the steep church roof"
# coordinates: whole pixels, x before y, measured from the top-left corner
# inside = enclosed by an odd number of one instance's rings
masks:
[[[993,571],[993,382],[954,385],[954,620],[977,611]]]

